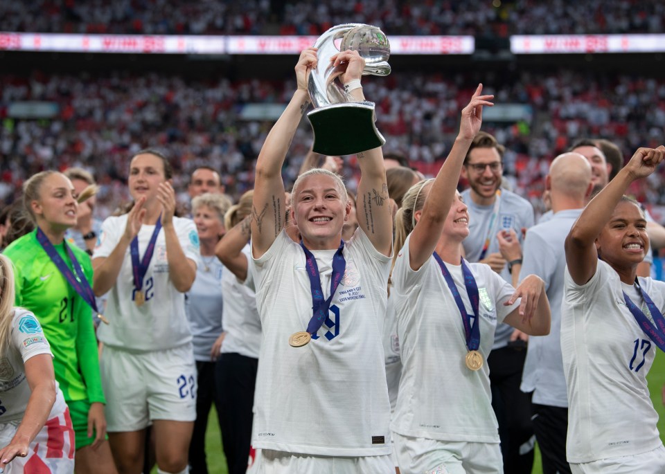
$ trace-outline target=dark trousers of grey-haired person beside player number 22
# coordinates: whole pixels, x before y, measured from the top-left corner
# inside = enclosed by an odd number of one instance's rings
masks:
[[[208,474],[206,464],[206,428],[208,428],[208,415],[215,403],[217,418],[222,427],[222,399],[220,390],[215,381],[218,362],[196,361],[197,394],[196,394],[196,421],[192,442],[189,445],[190,474]]]

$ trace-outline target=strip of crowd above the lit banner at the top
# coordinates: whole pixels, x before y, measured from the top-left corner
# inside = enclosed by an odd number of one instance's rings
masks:
[[[362,22],[393,35],[662,33],[657,0],[310,1],[4,0],[1,31],[143,35],[319,35]],[[591,21],[589,21],[591,19]]]

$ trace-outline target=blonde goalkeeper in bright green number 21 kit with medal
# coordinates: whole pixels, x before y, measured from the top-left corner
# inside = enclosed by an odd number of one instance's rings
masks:
[[[90,313],[91,307],[97,310],[92,266],[83,250],[64,240],[65,231],[76,226],[73,185],[58,172],[35,174],[24,184],[24,206],[37,228],[4,252],[15,266],[15,302],[37,316],[51,343],[55,378],[76,432],[76,472],[113,474]]]

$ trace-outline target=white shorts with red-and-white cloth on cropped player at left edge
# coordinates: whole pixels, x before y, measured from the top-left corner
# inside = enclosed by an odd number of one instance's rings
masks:
[[[64,405],[64,403],[63,403]],[[71,474],[74,472],[74,428],[69,408],[54,414],[46,421],[28,446],[26,457],[15,457],[5,466],[5,474],[44,473]],[[10,444],[21,421],[0,424],[0,448]]]

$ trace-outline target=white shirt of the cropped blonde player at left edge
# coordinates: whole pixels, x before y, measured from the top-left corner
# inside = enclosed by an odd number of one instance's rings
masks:
[[[53,357],[42,326],[33,313],[15,308],[9,345],[0,356],[0,424],[23,418],[32,393],[26,378],[25,363],[39,354]],[[61,413],[66,405],[60,385],[57,382],[55,385],[57,396],[51,413]]]

